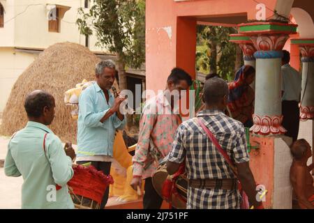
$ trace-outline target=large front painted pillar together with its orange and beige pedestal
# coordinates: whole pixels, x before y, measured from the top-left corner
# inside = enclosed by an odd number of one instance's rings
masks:
[[[257,52],[255,75],[255,113],[251,128],[251,145],[259,149],[250,153],[250,168],[256,183],[268,191],[265,208],[291,208],[292,187],[290,166],[291,139],[281,123],[281,58],[282,49],[297,25],[271,22],[253,22],[239,25],[239,33],[250,36]]]

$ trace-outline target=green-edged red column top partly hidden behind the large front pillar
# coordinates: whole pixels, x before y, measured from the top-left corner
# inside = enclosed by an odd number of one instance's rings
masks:
[[[253,68],[255,68],[254,53],[256,52],[256,49],[251,38],[243,34],[231,34],[230,42],[239,44],[239,47],[244,54],[244,65],[253,66]]]

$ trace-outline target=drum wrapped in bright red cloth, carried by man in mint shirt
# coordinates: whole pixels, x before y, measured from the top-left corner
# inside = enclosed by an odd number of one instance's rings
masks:
[[[68,189],[75,208],[100,209],[103,194],[113,183],[112,176],[106,176],[95,167],[73,165],[74,176],[68,182]]]

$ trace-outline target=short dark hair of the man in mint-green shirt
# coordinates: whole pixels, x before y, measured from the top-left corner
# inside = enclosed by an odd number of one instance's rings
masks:
[[[24,108],[27,116],[39,118],[43,115],[44,107],[53,107],[54,97],[45,91],[33,91],[27,95],[24,102]]]

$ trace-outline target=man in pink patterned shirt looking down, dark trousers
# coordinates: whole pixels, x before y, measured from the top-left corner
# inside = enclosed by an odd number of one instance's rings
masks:
[[[167,79],[167,89],[147,100],[143,108],[139,139],[133,156],[133,180],[130,185],[137,190],[137,187],[141,187],[142,179],[145,180],[144,209],[158,209],[163,202],[152,185],[151,177],[156,171],[158,161],[170,152],[174,133],[181,123],[179,112],[174,111],[174,104],[179,104],[179,101],[167,96],[173,91],[180,94],[191,84],[192,79],[187,72],[174,68]]]

